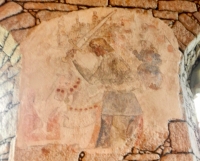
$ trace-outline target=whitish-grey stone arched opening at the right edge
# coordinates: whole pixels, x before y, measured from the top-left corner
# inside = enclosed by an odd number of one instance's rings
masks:
[[[198,99],[195,99],[198,97],[197,93],[199,93],[199,90],[195,90],[195,88],[191,87],[191,84],[194,84],[196,81],[196,77],[194,79],[192,78],[192,73],[196,71],[195,67],[197,67],[199,63],[200,43],[195,39],[190,44],[192,44],[193,47],[190,45],[188,46],[183,53],[183,58],[180,64],[180,98],[182,99],[183,114],[188,124],[191,147],[193,153],[199,155],[200,137],[198,126],[199,120],[197,119],[199,109],[196,110],[194,104],[194,102],[197,102],[197,104],[199,102]]]

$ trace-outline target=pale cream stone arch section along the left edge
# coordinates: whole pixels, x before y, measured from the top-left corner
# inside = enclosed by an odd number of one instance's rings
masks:
[[[0,27],[0,158],[12,160],[19,106],[19,44]],[[8,155],[10,153],[10,155]]]

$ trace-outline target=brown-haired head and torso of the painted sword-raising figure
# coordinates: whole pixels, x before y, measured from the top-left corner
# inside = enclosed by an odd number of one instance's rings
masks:
[[[94,38],[89,42],[89,46],[100,63],[96,64],[93,70],[88,70],[80,66],[76,60],[73,61],[80,74],[90,83],[101,82],[104,85],[120,85],[130,80],[130,67],[120,57],[115,55],[114,49],[104,38]]]

